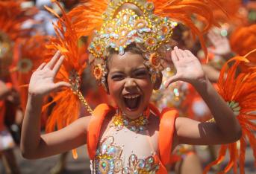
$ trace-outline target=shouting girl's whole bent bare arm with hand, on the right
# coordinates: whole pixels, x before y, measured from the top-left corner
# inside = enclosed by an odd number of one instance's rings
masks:
[[[200,123],[188,118],[178,117],[175,122],[177,144],[227,144],[237,141],[241,128],[234,113],[215,91],[205,77],[199,60],[190,52],[175,48],[172,61],[177,74],[171,77],[166,86],[177,80],[191,83],[209,107],[216,123]]]

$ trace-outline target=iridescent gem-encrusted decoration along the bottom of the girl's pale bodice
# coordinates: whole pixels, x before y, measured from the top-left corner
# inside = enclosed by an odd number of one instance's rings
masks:
[[[128,158],[128,164],[122,162],[122,147],[114,146],[112,136],[104,138],[96,150],[96,173],[102,174],[135,174],[135,173],[157,173],[159,164],[150,155],[148,158],[137,158],[137,155],[131,154]]]

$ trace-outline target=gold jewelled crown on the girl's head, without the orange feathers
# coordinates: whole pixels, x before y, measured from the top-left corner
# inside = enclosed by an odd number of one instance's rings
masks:
[[[124,4],[134,4],[143,14],[136,10],[124,9],[115,14]],[[125,48],[131,43],[143,52],[145,65],[149,68],[154,82],[163,70],[161,58],[165,56],[166,45],[172,39],[172,30],[177,25],[166,17],[153,13],[154,4],[147,1],[110,1],[107,11],[103,14],[104,23],[100,30],[95,30],[90,43],[90,62],[93,74],[100,84],[104,85],[104,74],[107,74],[107,50],[113,48],[119,55],[125,54]]]

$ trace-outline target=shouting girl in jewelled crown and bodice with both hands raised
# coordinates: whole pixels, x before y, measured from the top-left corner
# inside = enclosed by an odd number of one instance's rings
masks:
[[[89,51],[93,73],[113,97],[117,108],[99,105],[92,115],[81,117],[56,132],[40,135],[43,97],[60,88],[73,88],[64,81],[54,83],[54,77],[67,59],[57,51],[49,62],[34,71],[29,83],[22,124],[23,156],[43,158],[87,144],[93,173],[167,173],[164,165],[178,144],[237,141],[241,135],[240,124],[205,77],[199,60],[190,51],[178,47],[170,51],[166,45],[174,23],[163,18],[158,18],[157,23],[147,18],[154,7],[145,1],[118,1],[116,6],[111,3],[109,10],[114,9],[115,13],[108,13],[113,18],[106,18]],[[143,7],[148,8],[147,13]],[[165,39],[154,35],[160,30],[163,32],[160,36],[166,36]],[[113,31],[119,36],[111,33]],[[161,84],[161,57],[176,68],[176,74],[165,86],[178,80],[192,84],[207,103],[215,122],[200,123],[177,117],[175,109],[164,109],[160,113],[149,103],[152,91]]]

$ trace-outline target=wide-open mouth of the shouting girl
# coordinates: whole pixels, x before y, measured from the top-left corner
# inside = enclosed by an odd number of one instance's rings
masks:
[[[140,94],[128,94],[123,96],[125,101],[125,106],[128,110],[137,110],[140,106],[141,96]]]

